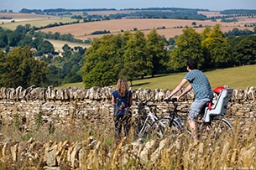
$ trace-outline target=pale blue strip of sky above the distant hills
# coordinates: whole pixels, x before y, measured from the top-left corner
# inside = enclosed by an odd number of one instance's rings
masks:
[[[203,8],[256,9],[256,0],[0,0],[0,10],[85,8]]]

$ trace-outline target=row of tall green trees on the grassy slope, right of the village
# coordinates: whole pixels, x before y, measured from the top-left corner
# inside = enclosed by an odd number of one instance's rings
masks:
[[[105,35],[91,43],[81,68],[86,88],[114,84],[118,77],[128,80],[185,71],[187,59],[196,59],[201,70],[214,70],[256,62],[256,37],[225,37],[220,25],[202,33],[185,28],[170,50],[154,29],[148,35],[137,30]]]

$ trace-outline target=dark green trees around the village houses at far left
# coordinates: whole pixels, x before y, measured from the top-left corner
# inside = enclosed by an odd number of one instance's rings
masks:
[[[65,44],[62,47],[63,53],[59,56],[50,41],[40,36],[34,38],[24,28],[18,26],[14,31],[4,30],[0,27],[0,49],[1,57],[3,58],[1,60],[3,67],[0,69],[0,85],[8,87],[17,87],[17,85],[23,87],[28,87],[29,85],[56,86],[61,85],[61,83],[82,81],[80,68],[83,64],[86,48],[80,46],[71,48],[68,44]],[[23,61],[26,59],[25,55],[33,62],[30,62],[30,60],[29,62]],[[9,64],[12,60],[15,62]],[[20,67],[23,65],[22,62],[26,62],[25,64],[28,65]],[[34,66],[39,69],[38,62],[45,65],[41,68],[42,70],[44,69],[41,74],[43,78],[35,82],[34,80],[29,80],[28,77],[34,77],[35,79],[37,77],[35,75],[39,74],[38,70],[31,68]],[[20,75],[21,73],[26,73],[27,78],[20,81],[18,81],[19,79],[13,79],[14,74],[10,75],[11,72],[8,70],[10,68],[19,77],[23,77]],[[13,70],[12,68],[15,69]],[[10,80],[12,80],[12,83],[10,83]]]

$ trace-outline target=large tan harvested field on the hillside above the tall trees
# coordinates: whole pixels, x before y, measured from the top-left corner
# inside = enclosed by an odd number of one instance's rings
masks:
[[[117,20],[107,20],[100,22],[91,23],[77,23],[72,25],[65,25],[55,28],[45,28],[41,29],[45,33],[48,32],[59,32],[60,34],[71,33],[76,39],[94,39],[100,38],[103,34],[91,35],[94,31],[107,30],[113,34],[122,33],[121,30],[133,31],[134,28],[143,31],[145,34],[149,33],[153,28],[159,28],[158,33],[165,35],[166,39],[175,37],[182,33],[185,27],[191,27],[192,23],[196,22],[196,25],[201,25],[203,28],[195,28],[197,32],[201,32],[204,27],[213,27],[217,23],[222,25],[222,31],[227,32],[233,28],[245,29],[244,24],[256,23],[256,18],[243,18],[236,23],[222,23],[219,20],[217,22],[212,21],[196,21],[196,20],[181,20],[181,19],[117,19]],[[163,28],[164,27],[164,28]],[[253,30],[253,27],[248,28]]]

